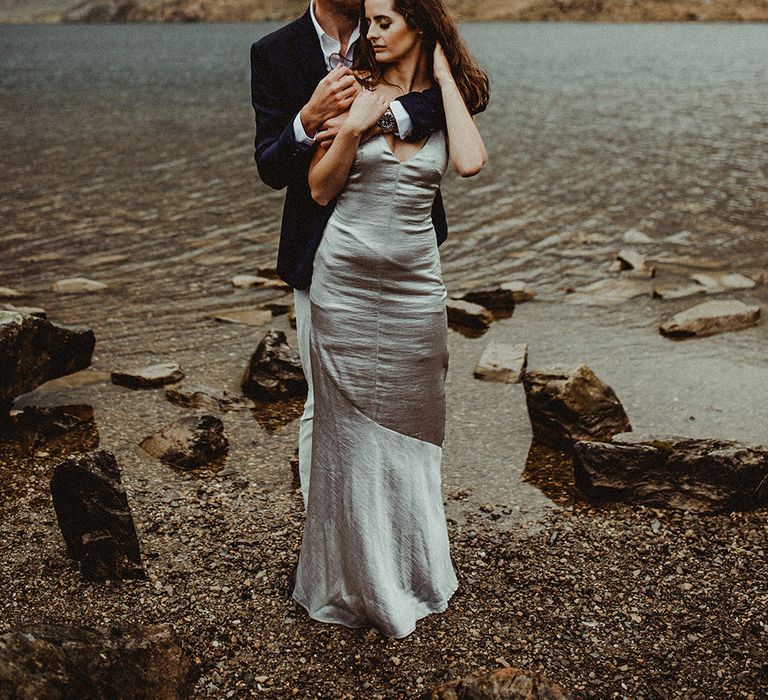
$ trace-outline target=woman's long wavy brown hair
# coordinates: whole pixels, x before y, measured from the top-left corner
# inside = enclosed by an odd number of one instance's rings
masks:
[[[480,67],[459,35],[456,22],[448,13],[443,0],[392,0],[394,9],[400,13],[408,26],[424,34],[424,48],[427,52],[430,71],[435,42],[440,42],[451,66],[453,79],[464,98],[467,109],[475,114],[485,109],[490,96],[488,74]],[[367,87],[384,82],[381,63],[376,61],[371,42],[367,36],[368,22],[365,19],[365,0],[360,0],[360,48],[352,66],[362,73],[359,78]]]

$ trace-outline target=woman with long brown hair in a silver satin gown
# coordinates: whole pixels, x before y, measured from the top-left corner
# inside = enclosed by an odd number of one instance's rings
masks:
[[[487,154],[471,113],[488,78],[442,0],[365,0],[363,89],[309,169],[336,199],[314,262],[312,466],[293,598],[310,617],[405,637],[458,587],[441,495],[448,365],[431,208],[448,164]],[[445,129],[365,140],[401,94],[437,85]],[[385,122],[386,123],[386,122]]]

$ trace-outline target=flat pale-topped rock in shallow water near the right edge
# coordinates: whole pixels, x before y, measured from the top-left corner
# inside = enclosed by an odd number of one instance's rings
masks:
[[[738,331],[757,324],[760,307],[737,299],[706,301],[681,311],[659,326],[662,335],[686,338]]]

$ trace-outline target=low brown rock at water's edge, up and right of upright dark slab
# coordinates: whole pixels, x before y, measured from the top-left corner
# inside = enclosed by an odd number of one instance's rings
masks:
[[[139,445],[157,459],[181,469],[194,469],[222,457],[229,449],[220,418],[187,416],[165,426]]]

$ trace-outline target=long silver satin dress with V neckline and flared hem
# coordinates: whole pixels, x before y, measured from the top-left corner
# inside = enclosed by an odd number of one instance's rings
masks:
[[[312,466],[293,598],[310,617],[405,637],[458,587],[440,463],[448,366],[431,209],[434,132],[405,162],[362,144],[310,289]]]

